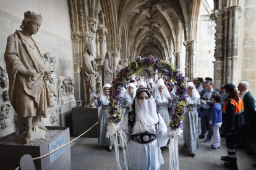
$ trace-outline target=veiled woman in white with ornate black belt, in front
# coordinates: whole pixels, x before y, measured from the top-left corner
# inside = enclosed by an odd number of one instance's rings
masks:
[[[164,164],[160,147],[168,141],[167,127],[156,113],[156,103],[147,88],[137,91],[132,111],[124,117],[117,130],[127,142],[126,158],[129,169],[160,169]]]

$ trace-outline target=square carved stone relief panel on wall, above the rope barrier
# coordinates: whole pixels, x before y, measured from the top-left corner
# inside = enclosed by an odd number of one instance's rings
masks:
[[[72,107],[75,107],[74,79],[72,77],[59,77],[58,87],[59,103],[61,105],[72,103]]]

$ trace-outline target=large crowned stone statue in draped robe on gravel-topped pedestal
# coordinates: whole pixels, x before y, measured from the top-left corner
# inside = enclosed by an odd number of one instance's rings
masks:
[[[7,39],[4,60],[9,77],[9,100],[26,126],[17,142],[45,139],[46,127],[40,117],[46,118],[50,104],[46,81],[51,71],[46,70],[41,54],[32,38],[41,26],[42,17],[25,12],[20,28]]]

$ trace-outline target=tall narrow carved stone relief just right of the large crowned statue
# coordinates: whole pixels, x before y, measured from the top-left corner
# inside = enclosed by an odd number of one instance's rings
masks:
[[[45,67],[51,70],[51,79],[47,81],[49,97],[51,104],[48,108],[47,118],[41,118],[44,126],[59,126],[59,113],[61,112],[61,105],[58,99],[58,77],[55,73],[56,57],[52,56],[49,52],[41,55],[41,59]]]

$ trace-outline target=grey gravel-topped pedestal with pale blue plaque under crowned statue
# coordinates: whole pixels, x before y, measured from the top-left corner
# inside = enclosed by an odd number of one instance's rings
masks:
[[[54,137],[47,140],[41,145],[18,145],[14,144],[9,137],[14,137],[15,135],[10,135],[5,137],[0,141],[0,167],[1,169],[15,169],[19,166],[20,158],[23,155],[29,154],[32,158],[43,156],[49,151],[55,150],[70,141],[69,127],[52,127],[46,126],[48,130],[63,130],[58,135],[54,136],[54,132],[51,133]],[[71,169],[71,157],[70,157],[70,145],[52,153],[51,155],[35,160],[35,168],[38,170],[46,169]]]

